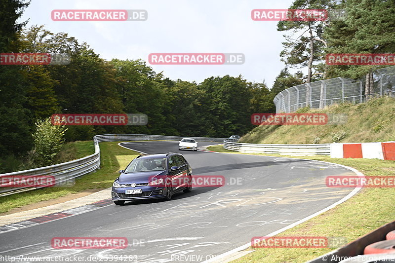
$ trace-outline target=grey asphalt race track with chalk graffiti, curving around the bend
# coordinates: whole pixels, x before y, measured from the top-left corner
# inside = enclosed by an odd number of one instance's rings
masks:
[[[162,153],[177,151],[177,144],[135,142],[122,143],[122,146]],[[209,143],[199,143],[204,145]],[[295,223],[353,190],[325,187],[326,176],[355,175],[337,165],[204,151],[181,153],[192,165],[194,175],[223,175],[228,183],[241,178],[241,184],[194,188],[190,193],[176,194],[171,201],[111,204],[88,213],[4,232],[0,234],[0,254],[137,255],[139,263],[200,262],[244,245],[253,236],[265,236]],[[129,246],[108,250],[51,248],[52,237],[67,236],[126,237]]]

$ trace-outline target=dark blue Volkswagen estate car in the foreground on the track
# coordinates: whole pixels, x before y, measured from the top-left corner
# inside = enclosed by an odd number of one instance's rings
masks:
[[[136,199],[164,198],[192,190],[192,168],[178,152],[142,154],[119,171],[111,191],[116,205]]]

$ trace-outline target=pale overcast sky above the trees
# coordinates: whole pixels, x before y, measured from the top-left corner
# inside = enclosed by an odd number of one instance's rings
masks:
[[[45,25],[87,42],[101,58],[142,59],[170,79],[200,83],[242,75],[272,87],[284,68],[277,21],[253,21],[253,9],[286,9],[292,0],[32,0],[18,22]],[[54,9],[144,9],[146,21],[52,21]],[[243,53],[242,65],[150,65],[150,53]]]

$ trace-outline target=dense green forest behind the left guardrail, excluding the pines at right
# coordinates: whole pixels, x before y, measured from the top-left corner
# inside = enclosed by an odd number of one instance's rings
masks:
[[[44,26],[17,24],[27,4],[1,1],[1,53],[68,53],[68,65],[1,65],[0,162],[35,147],[38,120],[54,113],[145,113],[145,126],[68,126],[66,141],[96,134],[146,133],[229,137],[253,126],[250,115],[275,110],[263,83],[212,76],[201,83],[172,80],[142,60],[106,61],[85,42]]]

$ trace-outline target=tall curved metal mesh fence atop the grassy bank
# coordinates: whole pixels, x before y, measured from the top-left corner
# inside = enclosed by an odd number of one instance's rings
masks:
[[[323,109],[339,102],[361,103],[368,97],[395,97],[395,66],[373,72],[373,92],[365,94],[365,79],[336,77],[297,85],[278,93],[276,113],[291,113],[299,108]]]

